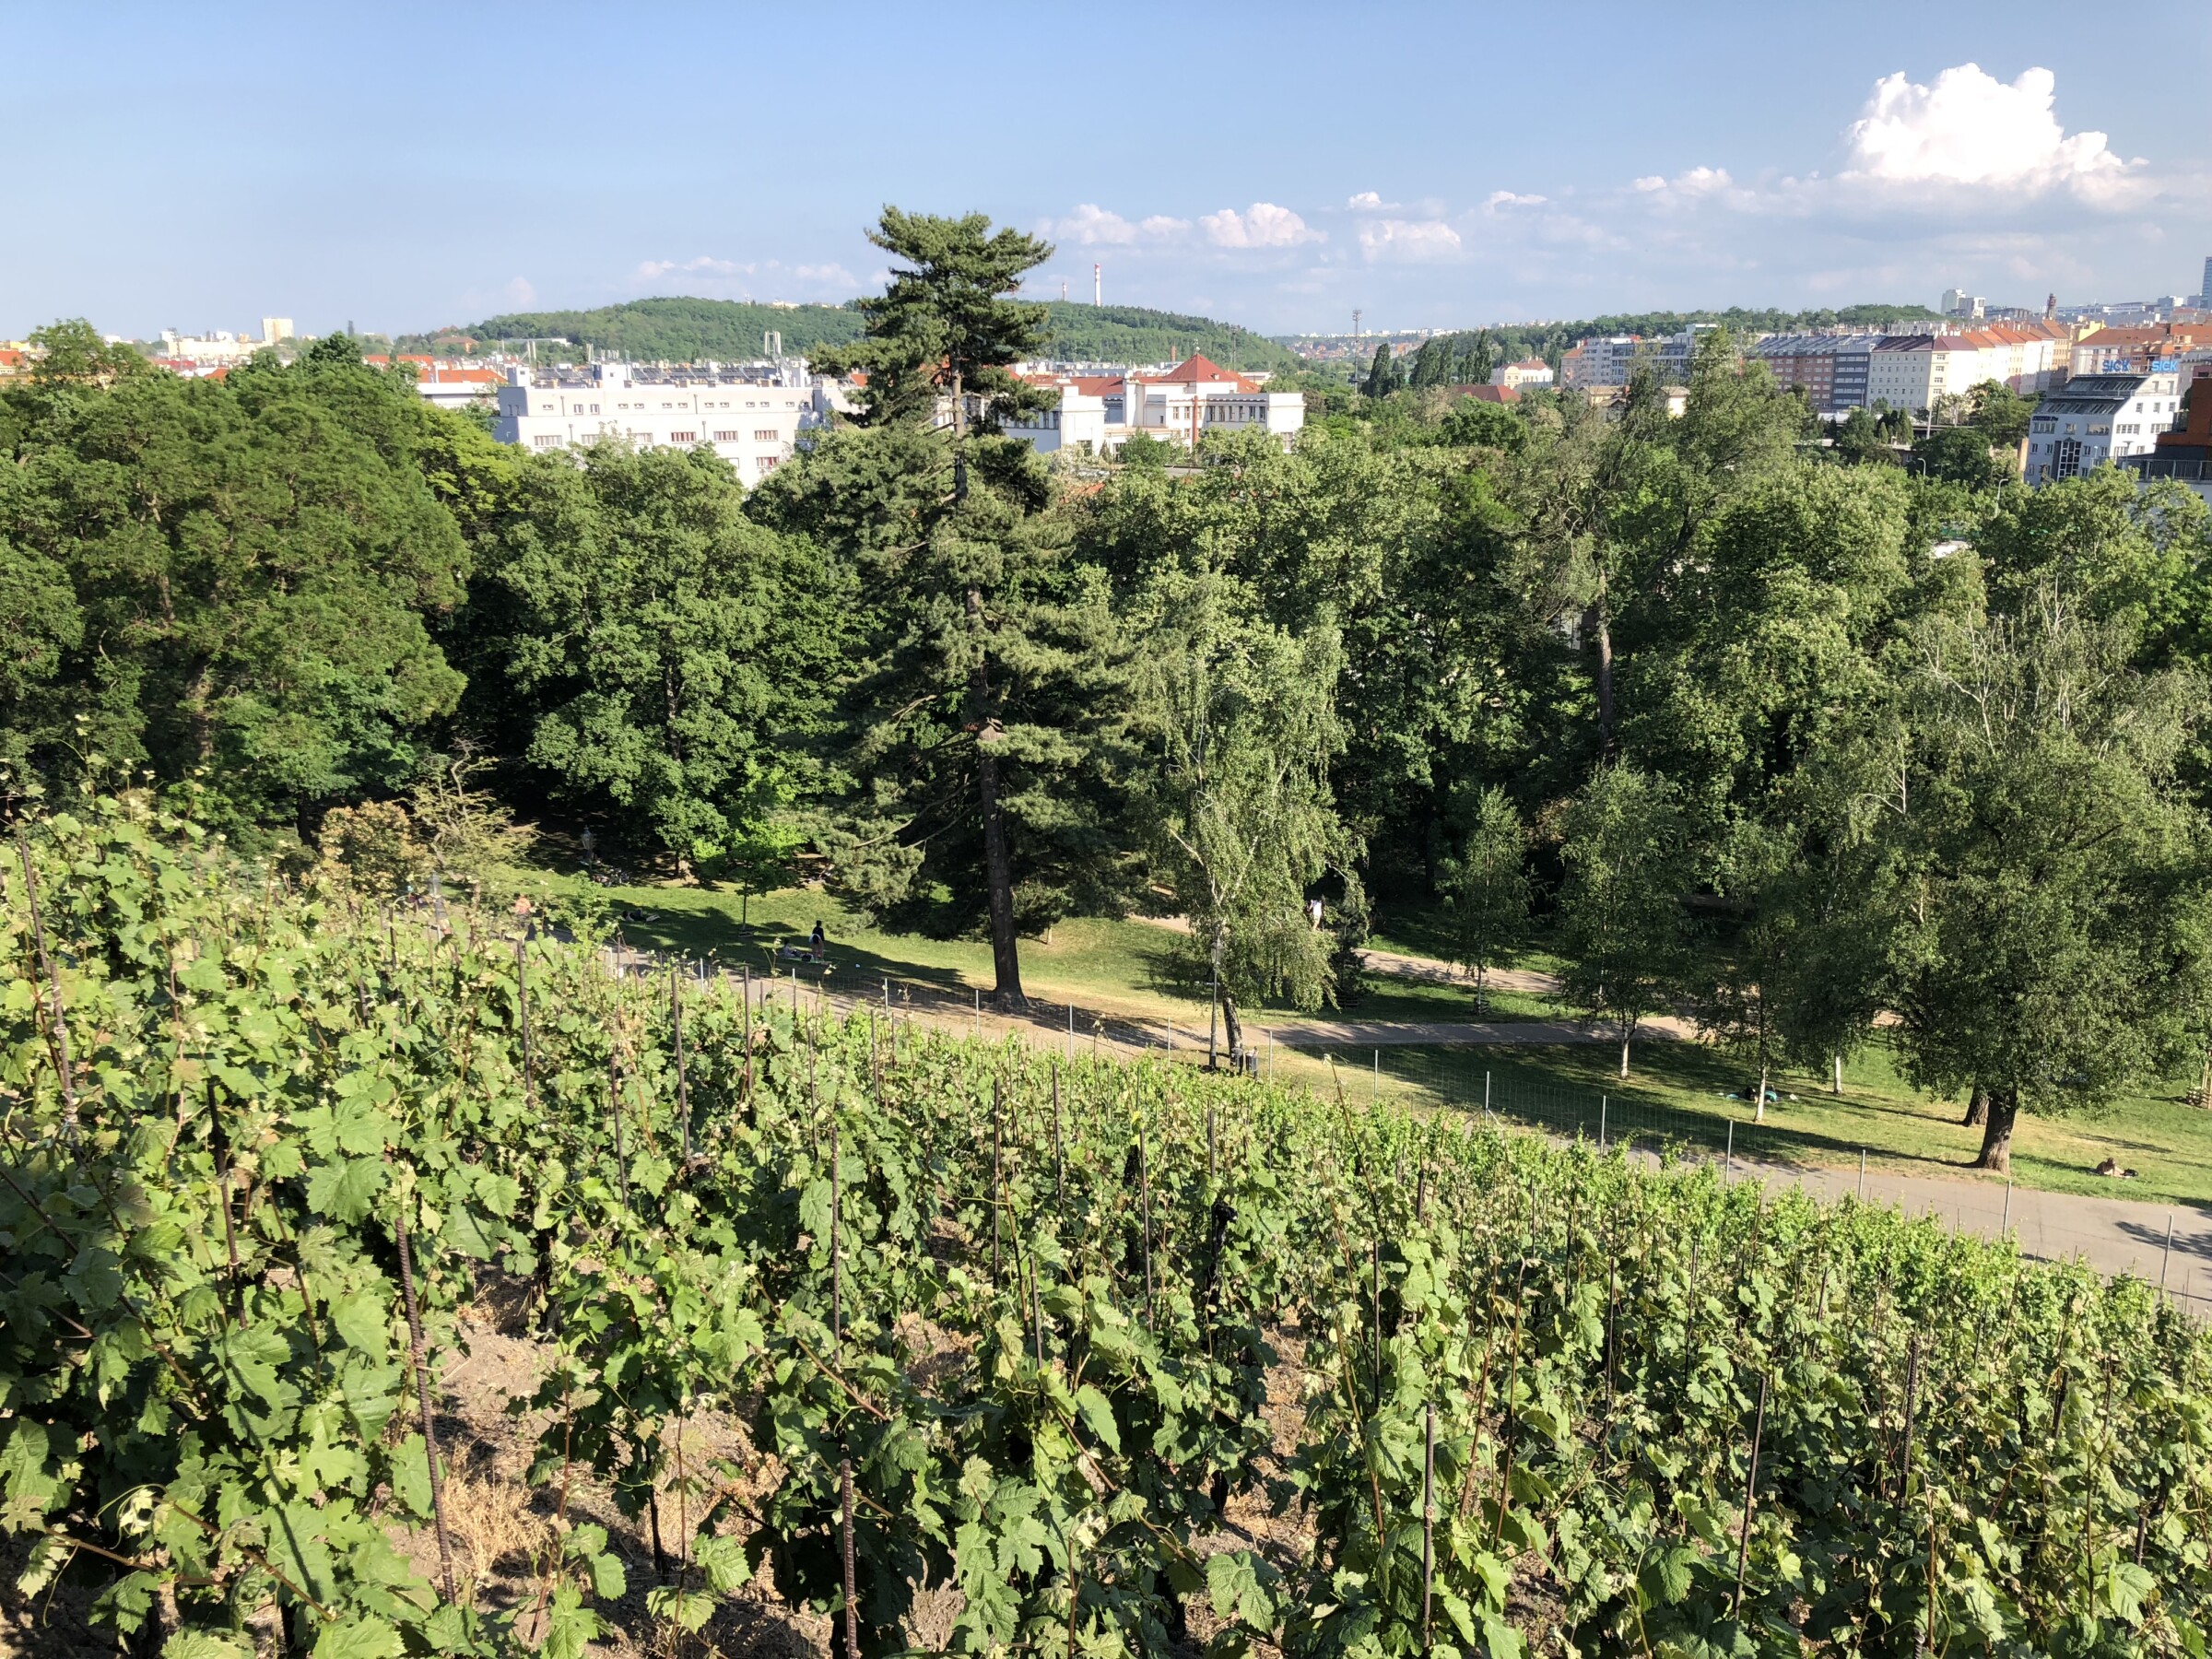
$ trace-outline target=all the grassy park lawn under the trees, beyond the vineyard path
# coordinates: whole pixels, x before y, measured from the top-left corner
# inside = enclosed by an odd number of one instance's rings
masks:
[[[991,984],[991,949],[982,940],[933,940],[883,933],[825,894],[785,889],[741,902],[739,894],[701,887],[611,887],[606,898],[624,914],[622,933],[630,945],[703,956],[728,969],[752,962],[765,967],[779,942],[803,942],[816,920],[830,936],[830,958],[841,969],[889,973],[936,984],[953,995]],[[739,916],[748,922],[741,927]],[[1022,984],[1044,1002],[1075,1002],[1084,1011],[1117,1020],[1206,1029],[1206,987],[1177,973],[1179,938],[1150,922],[1071,920],[1048,940],[1022,940]],[[1394,925],[1378,936],[1380,949],[1433,953],[1438,940],[1418,927]],[[1557,960],[1526,951],[1515,967],[1557,971]],[[1358,1006],[1323,1018],[1376,1022],[1473,1020],[1473,991],[1464,982],[1374,978]],[[1298,1018],[1294,1009],[1245,1011],[1259,1024]],[[1493,1020],[1546,1020],[1571,1013],[1555,1000],[1526,991],[1493,991]],[[1752,1124],[1750,1079],[1741,1064],[1694,1042],[1646,1040],[1635,1046],[1632,1075],[1615,1075],[1610,1044],[1559,1046],[1389,1046],[1325,1053],[1274,1051],[1283,1082],[1307,1082],[1316,1093],[1345,1091],[1352,1102],[1385,1095],[1407,1104],[1482,1104],[1482,1079],[1491,1075],[1493,1097],[1504,1110],[1515,1106],[1542,1121],[1577,1119],[1597,1130],[1597,1099],[1610,1097],[1608,1128],[1621,1133],[1663,1124],[1670,1133],[1719,1144],[1736,1121],[1736,1148],[1745,1157],[1856,1166],[1860,1148],[1869,1161],[1907,1175],[1975,1177],[1966,1164],[1980,1150],[1980,1130],[1962,1128],[1960,1104],[1929,1099],[1891,1066],[1885,1046],[1869,1046],[1845,1066],[1840,1099],[1827,1093],[1827,1077],[1774,1075],[1772,1086],[1796,1099],[1767,1106],[1767,1121]],[[1728,1099],[1725,1095],[1741,1095]],[[2026,1117],[2013,1139],[2013,1166],[2022,1186],[2101,1197],[2172,1199],[2212,1203],[2212,1113],[2183,1099],[2183,1086],[2157,1088],[2126,1099],[2101,1117]],[[2137,1181],[2110,1181],[2095,1172],[2099,1159],[2117,1157],[2139,1172]]]

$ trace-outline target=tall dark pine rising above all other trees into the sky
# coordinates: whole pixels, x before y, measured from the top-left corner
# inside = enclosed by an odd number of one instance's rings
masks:
[[[841,889],[936,931],[982,922],[995,1002],[1020,1009],[1020,933],[1115,907],[1119,869],[1095,776],[1104,593],[1068,557],[1042,462],[991,434],[1033,400],[1011,365],[1042,349],[1046,312],[1009,294],[1053,250],[896,208],[874,241],[905,268],[860,303],[867,336],[821,358],[867,372],[872,425],[783,467],[752,511],[834,549],[869,602],[836,757],[852,785],[823,827]]]

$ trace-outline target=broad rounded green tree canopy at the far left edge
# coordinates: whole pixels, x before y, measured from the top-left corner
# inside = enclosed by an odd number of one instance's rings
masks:
[[[354,356],[181,380],[49,338],[0,394],[15,763],[197,781],[234,825],[409,781],[462,686],[429,630],[469,571],[422,465],[449,418]]]

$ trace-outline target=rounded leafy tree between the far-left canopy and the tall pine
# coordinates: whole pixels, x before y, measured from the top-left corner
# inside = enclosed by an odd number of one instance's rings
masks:
[[[465,641],[493,750],[708,872],[818,787],[852,646],[849,577],[748,520],[743,493],[706,449],[526,458]]]

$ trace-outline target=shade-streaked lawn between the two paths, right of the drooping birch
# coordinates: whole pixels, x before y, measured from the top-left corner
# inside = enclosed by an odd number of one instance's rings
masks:
[[[1982,1130],[1958,1121],[1964,1104],[1916,1091],[1896,1073],[1885,1046],[1845,1066],[1840,1099],[1827,1093],[1827,1077],[1774,1073],[1770,1088],[1783,1099],[1767,1106],[1763,1124],[1752,1121],[1754,1077],[1701,1042],[1639,1042],[1626,1084],[1613,1044],[1340,1048],[1336,1062],[1332,1075],[1325,1055],[1279,1055],[1276,1075],[1310,1079],[1316,1091],[1343,1086],[1354,1104],[1380,1095],[1462,1110],[1482,1108],[1489,1079],[1500,1110],[1568,1135],[1579,1128],[1595,1139],[1599,1099],[1608,1097],[1613,1137],[1650,1133],[1655,1115],[1639,1108],[1659,1106],[1659,1133],[1705,1144],[1712,1152],[1728,1146],[1734,1124],[1734,1150],[1747,1159],[1856,1168],[1865,1150],[1871,1168],[1995,1181],[1969,1168]],[[2097,1175],[2106,1157],[2132,1168],[2137,1179]],[[2135,1095],[2101,1115],[2028,1113],[2013,1133],[2013,1177],[2048,1192],[2212,1206],[2212,1113],[2188,1104],[2181,1086]]]

